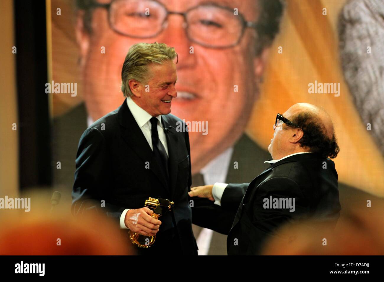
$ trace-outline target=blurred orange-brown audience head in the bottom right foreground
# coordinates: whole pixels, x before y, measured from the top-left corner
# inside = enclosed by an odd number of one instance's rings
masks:
[[[333,223],[302,221],[282,227],[266,242],[264,255],[384,255],[382,200],[376,208],[355,208]],[[342,210],[343,211],[343,210]]]

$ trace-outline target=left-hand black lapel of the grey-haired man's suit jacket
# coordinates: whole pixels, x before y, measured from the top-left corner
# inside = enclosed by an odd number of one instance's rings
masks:
[[[122,138],[127,142],[129,147],[137,153],[139,158],[141,158],[143,165],[145,165],[146,162],[149,162],[149,169],[157,176],[157,178],[159,178],[162,185],[167,190],[167,180],[161,172],[160,165],[157,162],[147,139],[144,137],[144,134],[129,110],[126,99],[124,99],[124,102],[120,106],[118,115],[119,123],[122,127]]]

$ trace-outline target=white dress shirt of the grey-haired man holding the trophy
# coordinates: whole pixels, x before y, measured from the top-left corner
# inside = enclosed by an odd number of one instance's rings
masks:
[[[150,119],[152,118],[152,115],[148,114],[146,110],[138,106],[130,97],[127,97],[127,105],[134,119],[136,120],[137,125],[139,125],[142,133],[144,134],[145,139],[147,139],[147,142],[153,151],[152,135],[151,135],[152,125],[150,121]],[[163,125],[161,123],[161,115],[158,115],[156,118],[159,120],[159,122],[157,122],[157,132],[159,134],[159,140],[163,144],[166,150],[166,153],[168,155],[167,138],[164,133]],[[127,229],[127,226],[125,225],[125,216],[127,214],[127,211],[129,210],[130,209],[124,209],[124,211],[120,216],[121,229]]]

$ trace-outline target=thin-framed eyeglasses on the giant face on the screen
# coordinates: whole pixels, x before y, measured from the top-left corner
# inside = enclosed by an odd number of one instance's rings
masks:
[[[184,28],[190,41],[209,48],[238,45],[245,28],[258,29],[253,21],[229,7],[202,3],[186,12],[173,12],[156,0],[113,0],[111,3],[91,2],[89,8],[108,9],[109,26],[118,34],[131,38],[151,38],[168,25],[169,15],[184,17]]]

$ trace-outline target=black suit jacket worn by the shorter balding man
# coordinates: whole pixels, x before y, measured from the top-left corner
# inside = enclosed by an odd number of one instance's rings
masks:
[[[277,228],[298,219],[321,218],[336,225],[341,210],[337,180],[332,160],[306,153],[276,162],[251,183],[229,184],[221,206],[237,214],[227,238],[228,255],[260,254]],[[264,208],[270,196],[295,198],[295,211]]]

